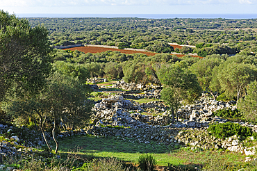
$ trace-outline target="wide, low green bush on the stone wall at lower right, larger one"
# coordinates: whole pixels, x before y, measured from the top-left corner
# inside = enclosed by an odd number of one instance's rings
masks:
[[[208,131],[210,131],[213,136],[222,139],[234,135],[241,136],[244,139],[254,134],[251,128],[243,127],[240,124],[232,122],[226,122],[224,124],[210,124]]]

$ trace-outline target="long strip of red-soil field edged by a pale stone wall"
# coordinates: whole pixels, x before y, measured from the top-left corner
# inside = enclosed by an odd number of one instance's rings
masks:
[[[131,50],[124,50],[124,49],[112,49],[112,48],[105,48],[105,47],[71,47],[71,48],[67,48],[71,51],[83,51],[85,54],[87,53],[98,53],[98,52],[103,52],[103,51],[120,51],[124,54],[146,54],[147,56],[154,56],[155,54],[158,53],[154,53],[154,52],[147,52],[147,51],[131,51]],[[67,49],[63,49],[63,50],[67,50]],[[181,55],[181,54],[176,54],[176,56],[178,57],[182,57],[185,55]],[[200,56],[192,56],[192,57],[197,57],[197,58],[201,58]]]

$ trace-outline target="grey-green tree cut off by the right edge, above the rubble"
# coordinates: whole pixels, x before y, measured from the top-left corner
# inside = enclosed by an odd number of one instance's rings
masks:
[[[250,122],[257,122],[257,81],[252,81],[247,86],[247,95],[238,101],[238,109]]]

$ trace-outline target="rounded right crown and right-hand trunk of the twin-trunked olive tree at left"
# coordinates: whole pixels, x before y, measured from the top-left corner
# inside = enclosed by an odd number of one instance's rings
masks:
[[[70,77],[53,73],[48,79],[47,89],[42,97],[47,99],[49,104],[49,118],[53,120],[52,136],[56,142],[56,152],[58,152],[59,143],[55,138],[56,129],[61,119],[71,124],[76,121],[82,122],[88,119],[91,105],[85,105],[85,100],[89,96],[87,85],[82,84],[78,77]]]

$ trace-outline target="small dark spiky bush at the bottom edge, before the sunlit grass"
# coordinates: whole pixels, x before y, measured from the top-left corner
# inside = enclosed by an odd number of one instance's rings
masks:
[[[138,158],[138,167],[143,171],[154,170],[156,165],[156,159],[150,154],[142,154]]]

